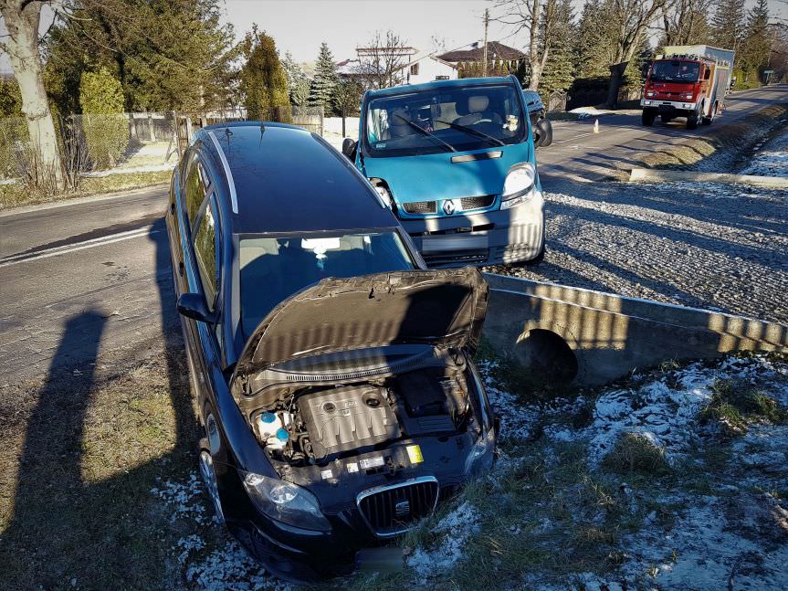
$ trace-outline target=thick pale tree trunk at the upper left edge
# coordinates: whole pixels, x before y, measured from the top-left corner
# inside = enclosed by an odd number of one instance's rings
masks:
[[[8,29],[5,50],[19,84],[22,112],[30,134],[34,159],[29,163],[31,180],[36,185],[58,190],[62,187],[63,169],[38,53],[41,3],[30,2],[23,7],[20,0],[3,0],[0,11]]]

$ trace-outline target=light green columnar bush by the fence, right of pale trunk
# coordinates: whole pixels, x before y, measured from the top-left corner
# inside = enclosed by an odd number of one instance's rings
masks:
[[[123,114],[121,82],[106,68],[83,73],[79,105],[81,129],[93,168],[112,168],[129,145],[129,119]]]

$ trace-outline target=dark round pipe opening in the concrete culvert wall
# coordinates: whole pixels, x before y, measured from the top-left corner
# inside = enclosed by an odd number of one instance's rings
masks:
[[[534,375],[557,382],[572,382],[579,370],[577,357],[569,344],[555,332],[533,329],[515,346],[517,360]]]

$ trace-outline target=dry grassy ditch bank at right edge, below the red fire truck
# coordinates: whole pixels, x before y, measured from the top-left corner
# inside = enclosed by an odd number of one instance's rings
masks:
[[[666,144],[655,152],[643,154],[641,162],[647,168],[730,171],[742,153],[749,152],[775,127],[786,122],[788,103],[773,104],[740,121],[727,124],[716,121],[709,135],[690,135],[677,143]]]

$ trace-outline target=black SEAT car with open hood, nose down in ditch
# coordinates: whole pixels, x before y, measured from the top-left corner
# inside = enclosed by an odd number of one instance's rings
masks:
[[[205,127],[166,218],[200,469],[268,569],[348,573],[489,469],[487,284],[426,270],[341,153],[289,125]]]

